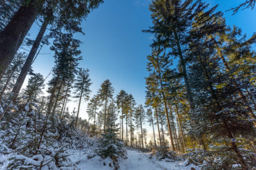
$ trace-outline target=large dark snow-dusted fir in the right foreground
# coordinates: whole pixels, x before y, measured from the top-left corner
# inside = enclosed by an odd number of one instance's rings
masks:
[[[204,26],[195,25],[194,33],[200,31],[201,27]],[[235,97],[240,87],[234,86],[232,74],[237,69],[223,72],[221,58],[215,57],[215,49],[212,46],[214,40],[207,34],[195,37],[190,44],[189,54],[193,57],[190,77],[193,89],[197,91],[195,94],[198,107],[193,117],[201,123],[195,126],[193,133],[211,134],[211,141],[215,141],[212,148],[217,150],[215,156],[218,155],[218,150],[222,150],[222,154],[226,152],[227,155],[232,150],[235,160],[229,162],[237,162],[242,169],[250,169],[248,160],[244,159],[243,152],[236,143],[236,138],[250,136],[250,133],[255,135],[252,133],[252,123],[246,121],[249,108],[242,108],[242,98]],[[243,89],[244,83],[239,86]],[[226,145],[216,146],[221,141]]]

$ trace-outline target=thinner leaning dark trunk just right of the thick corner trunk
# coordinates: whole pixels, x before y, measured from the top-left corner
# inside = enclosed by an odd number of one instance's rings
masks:
[[[30,50],[30,52],[28,54],[27,60],[26,60],[25,64],[23,65],[22,69],[21,69],[21,72],[19,74],[19,77],[18,77],[16,83],[14,84],[14,87],[12,89],[12,92],[14,94],[14,97],[12,99],[13,102],[16,101],[17,96],[19,95],[19,92],[20,92],[20,89],[22,87],[22,84],[23,84],[24,80],[26,79],[28,71],[29,71],[29,69],[30,69],[30,67],[31,67],[31,65],[32,65],[32,63],[34,61],[37,49],[38,49],[38,47],[39,47],[39,45],[41,43],[41,40],[42,40],[42,38],[44,36],[44,32],[45,32],[45,30],[47,28],[48,23],[49,23],[49,21],[45,20],[44,23],[42,24],[42,27],[41,27],[41,29],[40,29],[37,37],[36,37],[36,40],[35,40],[32,48],[31,48],[31,50]]]

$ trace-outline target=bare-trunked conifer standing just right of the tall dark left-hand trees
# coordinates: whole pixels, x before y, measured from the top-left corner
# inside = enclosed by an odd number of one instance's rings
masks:
[[[91,79],[89,78],[89,70],[79,69],[77,78],[75,79],[75,83],[74,83],[75,94],[76,94],[75,98],[79,98],[75,126],[77,126],[78,115],[79,115],[82,98],[85,101],[89,100],[90,98],[89,94],[91,92],[90,90],[91,84],[92,82],[91,82]]]

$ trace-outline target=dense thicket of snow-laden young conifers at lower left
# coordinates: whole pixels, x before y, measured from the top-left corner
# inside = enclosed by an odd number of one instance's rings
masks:
[[[6,168],[77,169],[70,149],[87,147],[89,139],[74,128],[70,116],[63,117],[43,113],[31,102],[10,105],[0,122],[0,154],[9,159],[4,160]]]

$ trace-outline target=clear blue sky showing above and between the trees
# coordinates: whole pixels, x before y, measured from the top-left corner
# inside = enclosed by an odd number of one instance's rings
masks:
[[[220,4],[217,10],[224,12],[228,25],[242,28],[251,36],[256,30],[256,9],[239,11],[235,15],[225,12],[245,0],[208,0],[210,6]],[[142,33],[151,25],[149,0],[106,0],[98,9],[89,14],[82,28],[85,36],[75,37],[83,42],[80,49],[84,58],[79,66],[90,70],[93,81],[92,95],[97,93],[100,84],[109,79],[116,93],[124,89],[132,94],[138,104],[145,102],[146,56],[150,54],[151,35]],[[34,26],[31,37],[38,32]],[[42,49],[33,68],[35,72],[47,75],[53,67],[53,52],[48,47]],[[50,78],[47,79],[49,81]],[[116,95],[116,94],[115,94]],[[70,111],[76,107],[71,103]],[[80,115],[87,117],[86,104]]]

